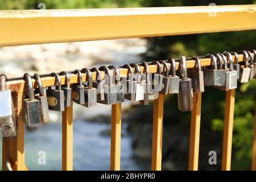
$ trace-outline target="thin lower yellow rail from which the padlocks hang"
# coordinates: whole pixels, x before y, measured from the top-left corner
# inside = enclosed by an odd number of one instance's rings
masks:
[[[200,56],[203,57],[203,56]],[[234,56],[233,56],[234,58]],[[208,67],[209,65],[211,65],[211,60],[209,58],[201,58],[201,67]],[[238,61],[243,61],[243,55],[238,55]],[[191,59],[187,59],[187,68],[194,68],[196,66],[195,64],[195,60],[191,60]],[[144,72],[144,67],[140,67],[141,68],[141,72]],[[150,73],[156,73],[157,71],[157,66],[156,65],[149,65],[150,68]],[[176,62],[176,70],[180,69],[180,64],[178,62]],[[120,68],[119,69],[120,72],[120,76],[121,77],[126,77],[128,75],[128,70],[126,68]],[[104,79],[104,72],[101,72],[101,77],[102,79]],[[49,77],[48,74],[44,75],[47,77],[42,77],[42,84],[44,87],[47,86],[55,86],[56,85],[56,79],[55,77]],[[93,76],[93,80],[96,80],[96,73],[92,72],[92,76]],[[61,84],[65,84],[65,76],[60,76],[61,78]],[[83,81],[88,81],[88,77],[82,73],[82,80]],[[35,80],[33,80],[33,82],[35,83]],[[77,75],[70,75],[70,84],[76,84],[79,82],[79,77]],[[7,88],[9,88],[12,91],[16,91],[19,92],[21,91],[20,89],[24,88],[24,81],[22,80],[22,78],[18,78],[18,80],[13,80],[13,81],[7,81],[6,86]],[[37,85],[34,85],[35,88],[37,87]]]

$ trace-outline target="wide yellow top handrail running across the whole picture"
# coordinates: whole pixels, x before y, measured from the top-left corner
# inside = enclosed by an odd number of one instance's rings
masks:
[[[256,29],[256,5],[0,11],[0,46]]]

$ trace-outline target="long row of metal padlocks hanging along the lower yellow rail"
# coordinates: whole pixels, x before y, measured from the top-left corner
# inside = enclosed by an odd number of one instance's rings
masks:
[[[193,93],[204,92],[204,86],[214,86],[217,89],[228,91],[237,88],[237,81],[248,82],[255,77],[256,51],[239,53],[243,55],[243,61],[240,64],[236,52],[205,55],[212,60],[212,64],[204,70],[201,70],[199,57],[193,56],[196,67],[188,71],[186,57],[181,55],[179,76],[176,75],[174,59],[150,63],[157,65],[157,72],[152,74],[145,61],[141,64],[144,67],[144,73],[141,73],[139,64],[123,65],[122,68],[128,70],[127,77],[120,77],[116,66],[84,68],[81,71],[76,69],[72,73],[51,73],[50,76],[56,78],[57,86],[55,89],[48,87],[46,92],[37,73],[33,77],[38,85],[36,89],[33,87],[32,77],[25,73],[23,76],[26,82],[24,119],[28,126],[37,126],[49,121],[49,110],[64,111],[65,107],[71,106],[72,101],[85,107],[93,107],[97,103],[118,104],[124,102],[125,99],[140,101],[143,105],[148,105],[149,101],[156,100],[159,94],[178,94],[179,110],[191,111]],[[105,72],[104,80],[101,79],[101,71]],[[92,72],[96,72],[96,81],[93,81]],[[78,75],[79,83],[70,86],[69,76],[71,74]],[[88,76],[88,81],[82,81],[82,74]],[[65,76],[65,85],[61,84],[60,75]],[[5,75],[0,76],[0,130],[3,137],[13,137],[16,135],[15,113],[11,91],[6,90],[6,80]]]

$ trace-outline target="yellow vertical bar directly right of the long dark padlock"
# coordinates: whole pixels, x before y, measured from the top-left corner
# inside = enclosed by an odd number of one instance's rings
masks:
[[[202,93],[193,93],[193,110],[191,112],[191,130],[189,142],[189,171],[198,170],[199,141],[200,141],[200,119],[201,119]]]

